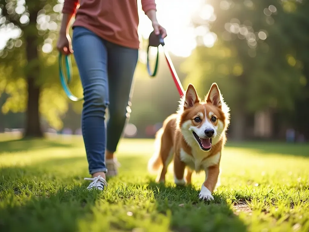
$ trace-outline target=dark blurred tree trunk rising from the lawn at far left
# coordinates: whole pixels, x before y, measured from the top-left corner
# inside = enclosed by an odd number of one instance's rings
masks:
[[[43,131],[40,122],[39,113],[39,99],[40,99],[40,86],[36,84],[36,80],[40,75],[39,57],[37,50],[37,32],[36,18],[38,12],[31,12],[29,17],[29,30],[25,33],[27,42],[27,82],[28,82],[28,102],[26,111],[26,129],[25,137],[43,137]],[[28,29],[27,28],[27,29]],[[27,30],[25,28],[25,30]]]

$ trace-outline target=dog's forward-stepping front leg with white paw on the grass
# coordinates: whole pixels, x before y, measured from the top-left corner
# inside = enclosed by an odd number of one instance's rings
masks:
[[[218,181],[219,176],[219,166],[210,166],[205,170],[206,178],[205,182],[201,187],[201,192],[199,194],[200,200],[214,200],[214,197],[211,195],[214,191],[214,188]]]

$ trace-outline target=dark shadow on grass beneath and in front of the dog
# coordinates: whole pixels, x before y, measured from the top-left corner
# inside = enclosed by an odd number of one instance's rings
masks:
[[[198,199],[199,191],[192,186],[166,186],[150,181],[159,213],[170,214],[171,229],[187,231],[247,231],[247,226],[233,212],[221,196],[214,194],[214,202]]]

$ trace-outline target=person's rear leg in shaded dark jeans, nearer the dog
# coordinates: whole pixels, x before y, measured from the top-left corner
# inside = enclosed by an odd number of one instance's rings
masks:
[[[118,142],[125,123],[130,116],[133,93],[133,75],[138,61],[138,49],[130,49],[107,43],[109,119],[107,123],[106,165],[108,175],[117,174],[117,161],[114,159]]]

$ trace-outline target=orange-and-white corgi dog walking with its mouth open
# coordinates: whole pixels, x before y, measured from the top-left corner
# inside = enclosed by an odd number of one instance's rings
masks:
[[[158,174],[156,181],[165,182],[167,167],[173,160],[176,185],[191,184],[193,171],[205,171],[199,198],[214,200],[212,193],[218,182],[222,148],[230,123],[229,111],[216,83],[211,85],[204,100],[189,84],[177,112],[167,117],[156,133],[157,151],[148,162],[148,171]]]

